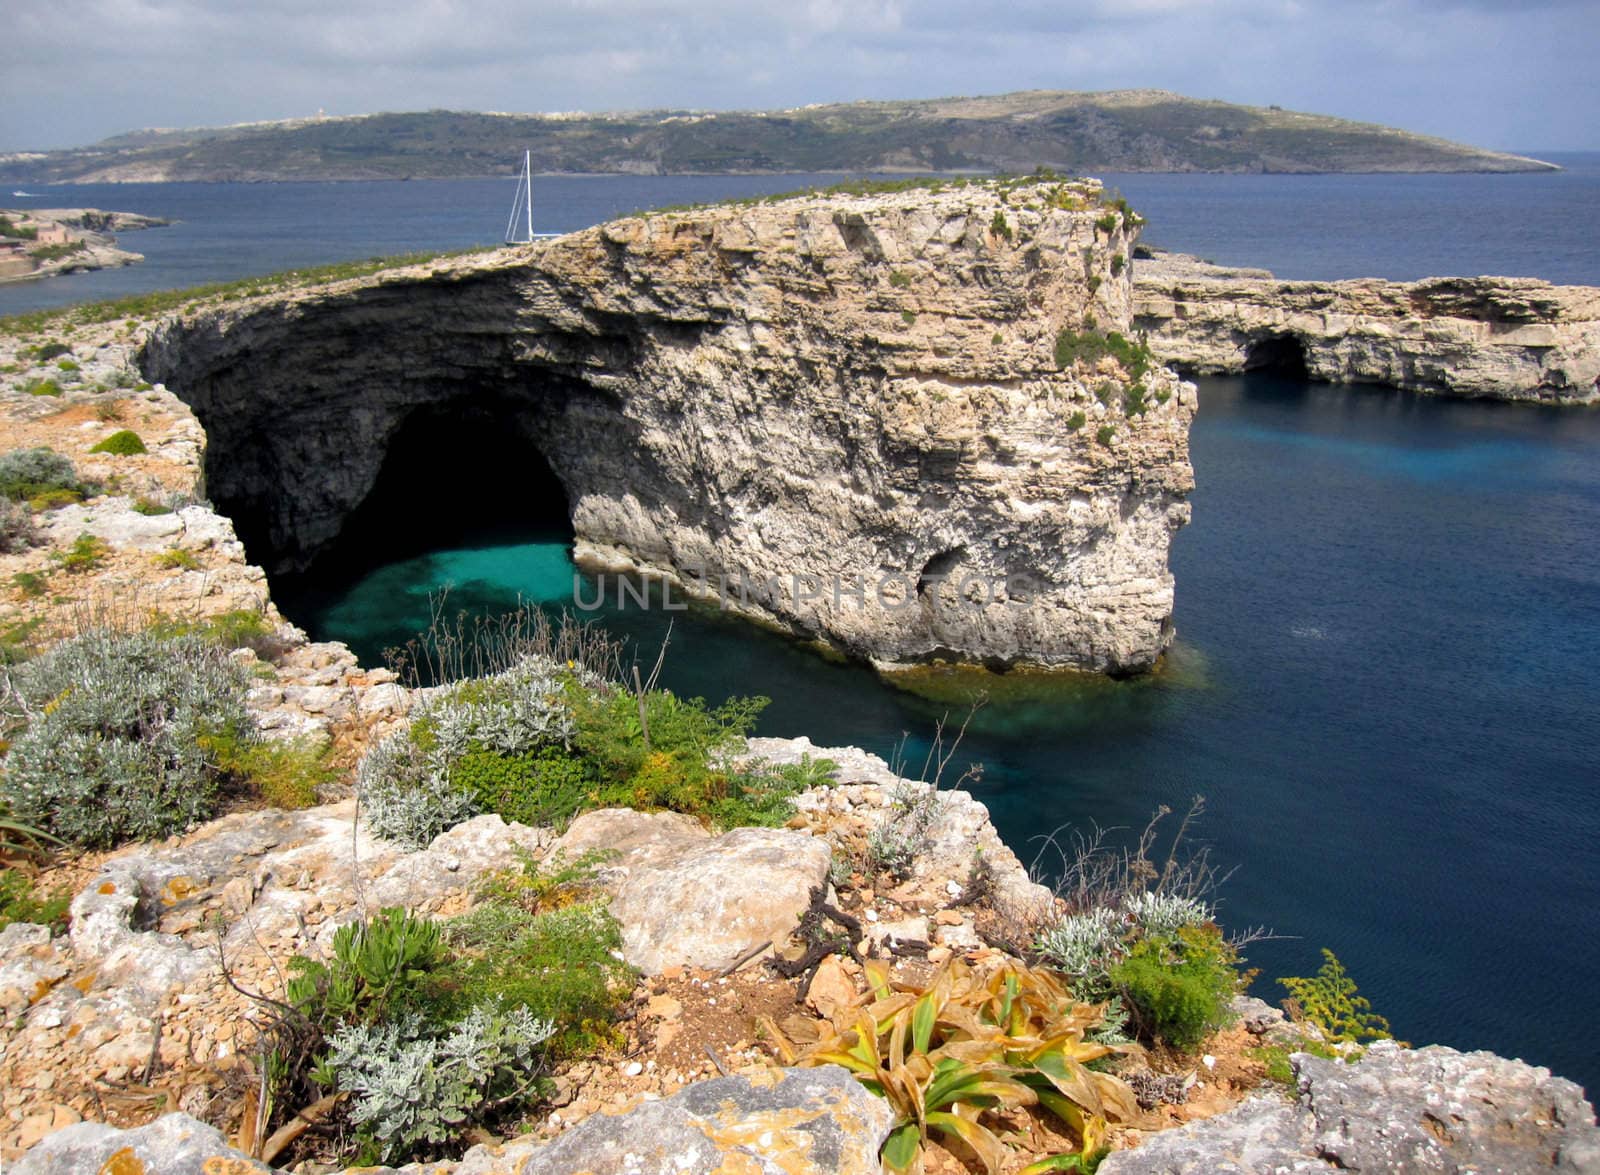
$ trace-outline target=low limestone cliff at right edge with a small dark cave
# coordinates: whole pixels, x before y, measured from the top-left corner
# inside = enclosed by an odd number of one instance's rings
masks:
[[[1600,288],[1531,277],[1280,282],[1168,253],[1134,269],[1134,323],[1186,371],[1302,365],[1328,383],[1600,400]]]

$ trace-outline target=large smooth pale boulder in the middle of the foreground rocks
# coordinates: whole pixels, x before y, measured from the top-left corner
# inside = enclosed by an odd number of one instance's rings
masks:
[[[624,808],[573,821],[554,852],[574,860],[611,850],[602,871],[622,956],[646,975],[669,967],[720,970],[763,943],[789,941],[811,890],[827,885],[824,840],[778,828],[707,836],[672,813]]]

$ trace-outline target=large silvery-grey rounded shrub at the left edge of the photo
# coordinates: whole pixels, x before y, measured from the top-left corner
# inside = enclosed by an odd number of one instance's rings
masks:
[[[210,816],[208,736],[245,733],[246,677],[192,637],[93,629],[6,672],[14,735],[0,792],[18,818],[85,847]]]

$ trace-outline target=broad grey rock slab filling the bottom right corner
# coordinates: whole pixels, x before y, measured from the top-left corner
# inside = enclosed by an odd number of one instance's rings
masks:
[[[1355,1065],[1296,1053],[1299,1098],[1251,1098],[1150,1135],[1101,1175],[1600,1172],[1582,1090],[1549,1069],[1381,1041]]]

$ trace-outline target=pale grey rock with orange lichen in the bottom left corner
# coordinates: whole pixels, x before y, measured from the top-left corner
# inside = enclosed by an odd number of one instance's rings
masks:
[[[189,1114],[165,1114],[136,1130],[104,1122],[69,1125],[24,1154],[11,1175],[269,1175],[270,1170],[229,1146],[221,1130]]]

